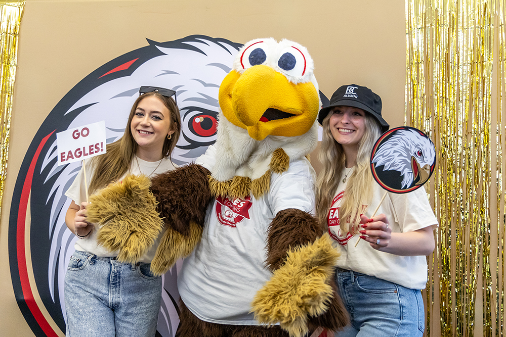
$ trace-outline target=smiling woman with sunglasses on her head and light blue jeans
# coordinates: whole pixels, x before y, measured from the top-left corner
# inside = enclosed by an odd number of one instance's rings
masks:
[[[126,174],[173,170],[170,155],[181,131],[175,91],[141,87],[123,136],[101,156],[86,160],[65,195],[72,200],[67,227],[79,238],[65,275],[67,336],[154,336],[161,301],[161,276],[150,272],[159,238],[137,264],[116,260],[97,243],[98,228],[87,222],[86,186],[93,194]]]

